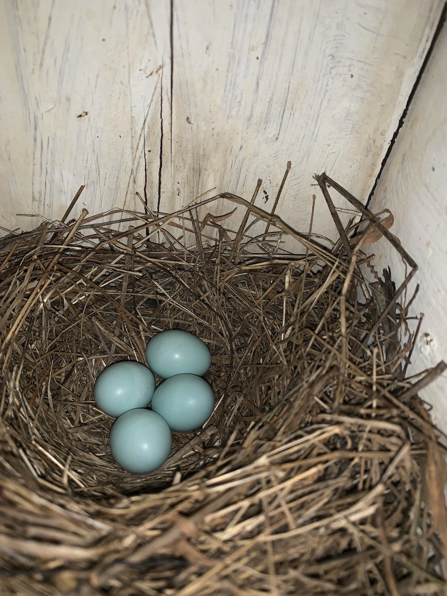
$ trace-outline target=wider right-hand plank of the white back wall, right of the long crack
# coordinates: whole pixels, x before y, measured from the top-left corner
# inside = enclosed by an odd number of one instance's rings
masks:
[[[287,160],[278,212],[297,228],[309,226],[314,172],[326,170],[365,200],[442,3],[176,0],[174,7],[164,209],[212,187],[250,198],[258,178],[268,208]],[[316,231],[335,232],[320,195],[315,221]]]

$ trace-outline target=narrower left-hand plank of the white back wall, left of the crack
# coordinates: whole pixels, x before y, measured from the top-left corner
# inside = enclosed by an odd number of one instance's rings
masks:
[[[1,224],[61,218],[81,184],[78,214],[141,209],[144,147],[159,179],[169,3],[5,0],[0,40]]]

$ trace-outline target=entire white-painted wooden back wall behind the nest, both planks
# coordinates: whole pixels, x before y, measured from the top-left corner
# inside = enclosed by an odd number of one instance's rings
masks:
[[[278,213],[306,230],[314,172],[367,197],[442,4],[4,0],[0,224],[60,218],[83,183],[77,213],[139,208],[145,187],[166,212],[250,198],[259,177],[269,207],[291,160]]]

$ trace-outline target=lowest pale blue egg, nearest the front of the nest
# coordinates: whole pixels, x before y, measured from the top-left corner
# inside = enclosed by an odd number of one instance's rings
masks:
[[[172,434],[167,422],[148,409],[132,409],[110,430],[110,451],[122,468],[134,474],[153,472],[169,457]]]

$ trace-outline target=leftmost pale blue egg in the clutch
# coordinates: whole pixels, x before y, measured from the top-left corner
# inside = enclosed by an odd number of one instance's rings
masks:
[[[141,362],[115,362],[98,375],[95,402],[105,414],[117,417],[129,409],[146,408],[155,386],[154,375]]]

